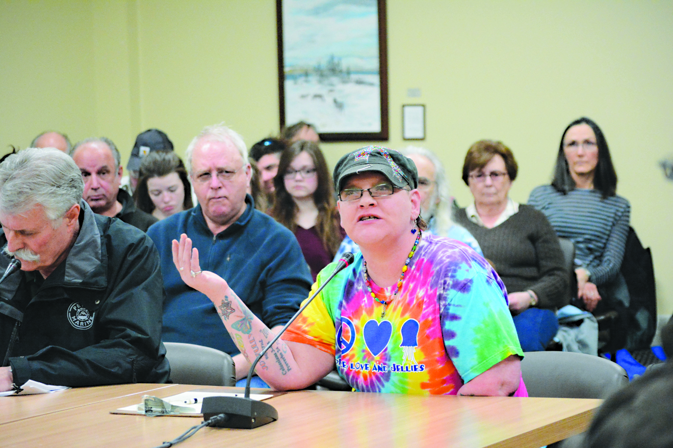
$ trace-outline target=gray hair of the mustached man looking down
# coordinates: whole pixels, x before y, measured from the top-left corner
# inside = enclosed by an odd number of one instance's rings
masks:
[[[83,191],[75,161],[55,148],[26,148],[0,163],[0,211],[5,214],[17,215],[40,204],[47,219],[55,222],[79,204]]]

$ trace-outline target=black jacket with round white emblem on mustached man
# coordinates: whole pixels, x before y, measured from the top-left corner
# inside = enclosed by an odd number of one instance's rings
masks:
[[[0,284],[0,356],[19,322],[9,353],[18,386],[28,379],[59,386],[165,383],[157,250],[137,228],[80,204],[77,240],[36,296],[30,299],[24,271]],[[6,243],[0,230],[0,247]],[[0,273],[8,263],[0,257]]]

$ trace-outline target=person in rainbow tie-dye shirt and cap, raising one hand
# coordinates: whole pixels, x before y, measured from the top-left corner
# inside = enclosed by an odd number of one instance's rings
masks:
[[[363,392],[526,396],[505,287],[466,245],[423,232],[413,161],[367,146],[343,156],[334,185],[341,224],[361,254],[267,352],[258,375],[277,389],[304,388],[336,361]],[[273,334],[223,279],[199,273],[190,246],[186,236],[174,242],[182,278],[211,298],[254,359]],[[314,291],[333,269],[318,274]]]

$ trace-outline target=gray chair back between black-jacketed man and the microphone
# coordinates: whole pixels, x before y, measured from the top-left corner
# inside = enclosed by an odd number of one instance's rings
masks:
[[[179,384],[236,386],[236,367],[223,351],[184,343],[164,343],[170,379]]]

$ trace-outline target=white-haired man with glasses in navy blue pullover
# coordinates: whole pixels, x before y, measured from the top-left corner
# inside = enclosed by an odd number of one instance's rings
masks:
[[[240,135],[222,124],[208,126],[189,144],[185,159],[199,205],[147,231],[161,255],[168,295],[162,340],[205,345],[234,355],[236,378],[242,379],[254,360],[239,353],[242,341],[229,337],[212,302],[180,279],[173,263],[173,241],[181,234],[189,236],[199,251],[201,269],[226,278],[273,331],[287,323],[308,297],[310,271],[295,236],[252,206],[252,197],[246,194],[252,169]],[[228,308],[223,310],[228,316],[227,312]],[[260,368],[264,369],[263,361]]]

